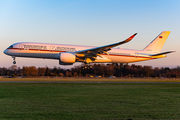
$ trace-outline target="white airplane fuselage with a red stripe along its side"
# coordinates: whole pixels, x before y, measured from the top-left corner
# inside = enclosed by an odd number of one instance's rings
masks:
[[[30,43],[20,42],[11,45],[4,53],[13,57],[29,57],[29,58],[44,58],[44,59],[59,59],[61,52],[77,52],[80,50],[91,49],[92,46],[64,45],[64,44],[47,44],[47,43]],[[108,54],[97,56],[95,63],[130,63],[144,60],[156,59],[149,56],[150,53],[143,50],[129,50],[112,48]],[[162,55],[161,57],[165,57]],[[160,58],[160,57],[159,57]],[[79,61],[78,59],[76,62]]]

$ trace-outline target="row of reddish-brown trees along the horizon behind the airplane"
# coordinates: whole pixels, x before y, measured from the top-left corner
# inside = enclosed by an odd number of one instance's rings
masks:
[[[93,64],[92,69],[83,69],[83,65],[74,66],[71,69],[60,67],[35,67],[23,66],[22,68],[13,65],[9,68],[0,68],[0,76],[6,77],[154,77],[154,78],[179,78],[180,67],[155,67],[129,65],[129,64]]]

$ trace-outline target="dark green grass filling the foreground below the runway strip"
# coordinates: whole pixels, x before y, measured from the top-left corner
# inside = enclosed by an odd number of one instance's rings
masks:
[[[180,119],[180,84],[1,83],[0,119]]]

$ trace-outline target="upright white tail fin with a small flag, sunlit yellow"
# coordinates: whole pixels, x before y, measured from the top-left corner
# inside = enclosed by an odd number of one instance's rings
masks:
[[[144,51],[152,51],[159,53],[168,38],[170,31],[163,31],[159,34],[147,47],[144,48]]]

